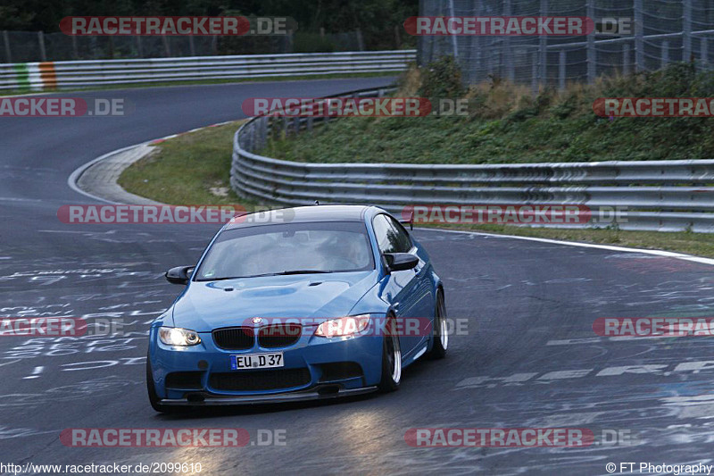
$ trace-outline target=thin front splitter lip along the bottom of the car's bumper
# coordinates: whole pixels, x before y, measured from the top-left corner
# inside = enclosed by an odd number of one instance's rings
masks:
[[[330,400],[339,397],[352,397],[371,393],[377,387],[339,388],[333,391],[331,386],[324,385],[309,390],[287,392],[271,395],[225,396],[208,392],[189,392],[183,398],[163,398],[161,405],[171,406],[213,406],[213,405],[260,405],[267,403],[303,402],[309,400]],[[328,391],[326,391],[328,390]]]

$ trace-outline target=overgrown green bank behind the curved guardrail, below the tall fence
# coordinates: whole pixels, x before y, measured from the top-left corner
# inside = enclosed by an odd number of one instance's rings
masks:
[[[438,76],[448,82],[456,73]],[[264,154],[320,163],[544,163],[714,157],[714,119],[602,118],[598,97],[711,97],[714,74],[693,64],[601,79],[566,91],[529,88],[498,79],[460,90],[430,84],[435,73],[411,71],[397,96],[463,97],[468,117],[348,118],[297,138],[278,138]],[[452,96],[448,96],[452,95]],[[455,96],[454,96],[455,95]]]

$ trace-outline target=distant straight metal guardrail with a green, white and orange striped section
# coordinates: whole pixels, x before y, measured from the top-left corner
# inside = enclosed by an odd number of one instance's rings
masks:
[[[405,71],[416,50],[0,64],[0,89]]]

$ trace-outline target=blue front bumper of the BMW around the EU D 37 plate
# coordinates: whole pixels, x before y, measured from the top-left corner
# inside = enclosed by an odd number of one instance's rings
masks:
[[[217,347],[211,333],[200,336],[199,345],[176,348],[162,344],[157,328],[152,328],[148,363],[162,405],[240,405],[346,397],[374,391],[381,379],[383,339],[374,336],[316,338],[308,333],[290,347],[267,349],[256,344],[243,351]],[[283,353],[284,367],[266,371],[230,368],[231,355],[273,352]],[[350,372],[334,367],[345,363]],[[183,381],[177,386],[171,379],[177,373],[188,375],[191,383]]]

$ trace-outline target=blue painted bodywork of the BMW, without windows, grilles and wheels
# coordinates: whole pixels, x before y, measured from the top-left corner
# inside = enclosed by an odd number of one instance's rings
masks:
[[[296,274],[265,276],[235,280],[188,282],[173,305],[151,325],[149,338],[150,378],[157,397],[163,404],[205,405],[209,399],[192,402],[187,394],[200,393],[223,398],[231,403],[255,403],[299,399],[311,390],[339,388],[349,390],[374,389],[381,379],[383,339],[380,335],[355,335],[350,338],[314,336],[316,326],[305,327],[295,344],[284,348],[265,349],[255,345],[245,350],[224,350],[216,346],[212,330],[245,326],[253,317],[304,318],[310,322],[369,313],[373,318],[394,315],[397,319],[422,318],[433,320],[436,315],[436,290],[441,287],[427,251],[411,236],[411,254],[419,256],[413,270],[388,272],[379,253],[372,220],[384,210],[371,206],[333,205],[288,209],[292,222],[362,221],[367,229],[374,253],[375,269],[370,271],[334,272],[329,274]],[[388,213],[387,213],[388,214]],[[225,230],[238,225],[228,223],[212,239],[196,269],[200,266],[213,241]],[[239,226],[270,226],[269,224]],[[158,337],[160,327],[195,330],[201,343],[191,347],[171,347]],[[433,327],[433,326],[431,326]],[[417,336],[401,336],[403,367],[414,362],[432,347],[433,332]],[[296,387],[233,391],[212,388],[212,373],[262,372],[231,370],[230,355],[282,352],[284,369],[307,369],[310,380]],[[322,364],[357,363],[361,375],[345,379],[326,380]],[[201,372],[200,388],[170,388],[166,376],[170,372]],[[331,394],[336,395],[336,394]],[[233,397],[232,399],[230,397]]]

